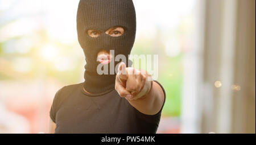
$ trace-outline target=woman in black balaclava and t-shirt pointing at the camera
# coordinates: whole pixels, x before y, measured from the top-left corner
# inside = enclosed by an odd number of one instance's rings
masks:
[[[50,111],[51,133],[156,132],[166,98],[162,85],[141,70],[126,68],[127,61],[113,59],[117,55],[128,58],[135,32],[133,1],[79,2],[77,35],[85,54],[85,81],[56,93]],[[110,68],[111,63],[119,66],[118,73],[97,72],[99,65]]]

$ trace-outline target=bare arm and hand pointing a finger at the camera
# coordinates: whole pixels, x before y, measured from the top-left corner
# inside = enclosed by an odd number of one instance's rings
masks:
[[[162,87],[155,81],[148,80],[150,74],[142,74],[141,70],[126,68],[121,63],[119,72],[115,78],[115,90],[120,97],[126,98],[138,111],[147,115],[154,115],[160,111],[164,103],[164,92]],[[121,71],[123,70],[124,73]],[[134,72],[138,73],[134,73]],[[132,74],[129,72],[133,72]],[[131,93],[133,92],[133,93]]]

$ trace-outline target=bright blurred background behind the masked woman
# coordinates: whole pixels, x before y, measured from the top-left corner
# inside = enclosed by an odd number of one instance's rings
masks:
[[[79,1],[0,0],[0,133],[47,132],[57,90],[84,81]],[[134,0],[132,54],[159,55],[158,133],[255,133],[255,1]]]

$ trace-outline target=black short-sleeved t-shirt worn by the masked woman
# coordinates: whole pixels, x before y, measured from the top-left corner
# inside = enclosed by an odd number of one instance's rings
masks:
[[[143,114],[115,89],[92,95],[80,83],[58,90],[49,114],[55,133],[155,133],[162,109],[155,115]]]

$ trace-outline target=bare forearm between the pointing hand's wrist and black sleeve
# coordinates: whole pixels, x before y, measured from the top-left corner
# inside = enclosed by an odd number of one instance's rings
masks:
[[[128,100],[129,103],[138,111],[147,115],[154,115],[158,113],[163,106],[164,93],[161,86],[153,81],[150,92],[146,96],[138,100]]]

